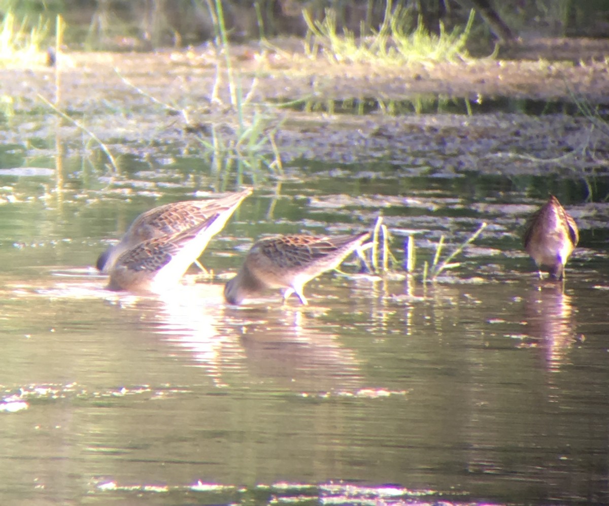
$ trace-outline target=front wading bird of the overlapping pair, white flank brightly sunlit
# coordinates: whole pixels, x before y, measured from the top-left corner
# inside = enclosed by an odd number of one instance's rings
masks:
[[[108,289],[162,292],[175,286],[208,243],[209,228],[222,219],[216,213],[189,230],[153,237],[123,251],[108,270]]]

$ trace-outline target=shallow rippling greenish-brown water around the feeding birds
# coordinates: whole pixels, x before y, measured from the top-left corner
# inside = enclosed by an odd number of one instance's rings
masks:
[[[213,175],[72,168],[58,192],[53,171],[0,172],[0,502],[609,501],[608,206],[583,204],[579,180],[375,169],[257,184],[203,254],[216,276],[161,297],[108,292],[91,265],[142,211],[213,194]],[[564,292],[519,241],[547,191],[582,228]],[[328,273],[308,307],[222,303],[259,235],[361,231],[379,210],[396,272],[415,237],[415,278]],[[482,221],[424,287],[440,236],[454,248]]]

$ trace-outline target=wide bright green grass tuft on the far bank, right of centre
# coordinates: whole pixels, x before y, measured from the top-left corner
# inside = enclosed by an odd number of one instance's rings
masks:
[[[319,44],[328,51],[331,61],[353,61],[359,63],[406,63],[411,61],[452,61],[465,54],[465,43],[474,21],[474,12],[463,31],[454,29],[447,33],[440,21],[440,33],[435,35],[424,26],[423,19],[418,18],[414,30],[409,26],[410,14],[397,5],[392,10],[390,0],[385,4],[385,18],[378,30],[370,37],[356,38],[350,30],[337,33],[336,12],[326,10],[322,21],[312,21],[311,16],[303,12],[309,28],[309,54],[317,55]]]

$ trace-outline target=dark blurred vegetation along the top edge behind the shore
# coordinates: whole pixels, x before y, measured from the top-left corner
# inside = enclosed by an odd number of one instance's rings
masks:
[[[213,40],[215,0],[0,0],[0,13],[29,23],[39,16],[66,21],[65,41],[73,49],[147,51]],[[225,0],[225,23],[233,41],[306,35],[302,12],[320,19],[337,13],[337,27],[356,35],[378,29],[386,2],[373,0]],[[465,23],[476,9],[471,40],[493,44],[531,37],[607,37],[609,0],[394,0],[403,23],[420,20],[430,32]]]

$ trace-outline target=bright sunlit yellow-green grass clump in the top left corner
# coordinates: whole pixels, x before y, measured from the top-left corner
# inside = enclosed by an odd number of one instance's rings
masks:
[[[0,65],[41,63],[40,46],[48,32],[49,24],[41,17],[30,24],[27,17],[18,19],[12,11],[5,12],[0,22]]]

